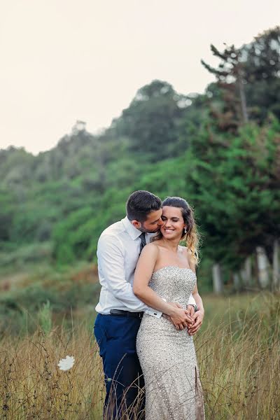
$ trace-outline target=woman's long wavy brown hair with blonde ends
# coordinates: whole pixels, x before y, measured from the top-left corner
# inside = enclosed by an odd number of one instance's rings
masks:
[[[169,207],[178,207],[181,209],[183,221],[186,223],[186,233],[185,229],[182,231],[181,239],[186,241],[186,247],[191,251],[192,255],[191,258],[195,265],[198,264],[198,248],[200,243],[200,237],[197,232],[197,225],[195,223],[195,217],[192,207],[190,204],[186,202],[181,197],[166,197],[165,200],[162,202],[162,207],[169,206]],[[162,239],[162,232],[158,232],[155,237],[153,237],[153,241],[158,241]]]

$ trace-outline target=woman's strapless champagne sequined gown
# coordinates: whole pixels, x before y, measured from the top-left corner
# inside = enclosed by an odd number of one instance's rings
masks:
[[[191,269],[167,266],[153,273],[149,286],[167,302],[186,307],[195,281]],[[204,419],[195,346],[186,329],[144,314],[137,353],[146,387],[146,420]]]

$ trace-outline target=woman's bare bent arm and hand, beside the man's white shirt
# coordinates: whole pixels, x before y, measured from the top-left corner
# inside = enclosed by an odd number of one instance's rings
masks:
[[[190,321],[193,321],[189,318],[188,311],[186,311],[186,309],[176,308],[172,306],[172,304],[165,302],[151,287],[148,286],[157,258],[158,246],[155,244],[148,244],[144,246],[134,273],[134,294],[149,307],[155,308],[158,311],[170,316],[176,328],[183,330],[183,328],[188,326],[187,321],[189,323]]]

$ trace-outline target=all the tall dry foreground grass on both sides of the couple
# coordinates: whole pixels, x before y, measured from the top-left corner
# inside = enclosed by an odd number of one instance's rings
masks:
[[[280,419],[279,314],[276,300],[229,311],[195,338],[207,419]],[[76,362],[62,372],[57,363],[66,355]],[[85,326],[3,335],[0,363],[1,419],[102,419],[102,363]]]

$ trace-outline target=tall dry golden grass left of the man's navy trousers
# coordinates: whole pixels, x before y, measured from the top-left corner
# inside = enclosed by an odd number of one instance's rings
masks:
[[[0,349],[1,419],[102,418],[102,364],[87,329],[3,337]],[[57,363],[66,355],[75,364],[64,372]]]

